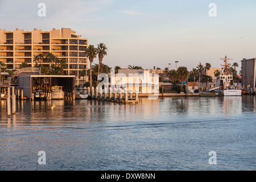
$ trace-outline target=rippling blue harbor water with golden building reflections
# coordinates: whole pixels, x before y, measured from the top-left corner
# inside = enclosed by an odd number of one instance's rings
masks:
[[[255,169],[255,98],[18,101],[11,118],[1,100],[0,169]]]

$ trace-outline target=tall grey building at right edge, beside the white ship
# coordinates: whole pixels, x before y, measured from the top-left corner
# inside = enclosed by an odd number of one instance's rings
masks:
[[[242,88],[256,92],[256,58],[245,59],[242,63]]]

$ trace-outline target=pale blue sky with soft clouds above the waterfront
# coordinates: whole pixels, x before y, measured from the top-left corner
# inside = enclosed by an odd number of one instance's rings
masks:
[[[46,16],[38,16],[39,3]],[[0,0],[0,28],[71,28],[95,47],[106,44],[110,67],[175,69],[179,61],[190,71],[199,63],[221,68],[225,55],[239,67],[256,57],[255,8],[256,0]]]

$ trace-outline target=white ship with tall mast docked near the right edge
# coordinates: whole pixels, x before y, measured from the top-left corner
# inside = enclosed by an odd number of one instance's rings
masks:
[[[224,63],[224,73],[217,77],[217,87],[216,92],[222,93],[223,96],[241,96],[242,88],[241,86],[234,86],[233,75],[229,72],[228,59],[225,56]],[[215,88],[214,88],[215,89]]]

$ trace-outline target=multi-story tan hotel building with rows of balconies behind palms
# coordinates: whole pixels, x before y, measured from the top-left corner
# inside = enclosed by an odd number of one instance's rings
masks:
[[[51,52],[66,60],[65,75],[77,75],[77,67],[88,69],[85,56],[87,47],[88,40],[80,38],[71,28],[53,28],[51,31],[36,28],[32,31],[0,29],[0,61],[5,63],[7,69],[19,69],[23,62],[35,67],[35,55],[42,53],[47,56]],[[40,64],[49,67],[46,58]]]

